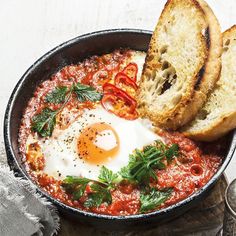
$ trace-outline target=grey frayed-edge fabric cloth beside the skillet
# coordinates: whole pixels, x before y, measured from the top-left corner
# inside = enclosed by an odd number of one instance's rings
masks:
[[[0,165],[0,235],[51,236],[58,229],[56,208],[30,182]]]

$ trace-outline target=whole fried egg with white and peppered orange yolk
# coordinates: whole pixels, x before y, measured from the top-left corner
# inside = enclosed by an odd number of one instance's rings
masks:
[[[67,175],[97,179],[101,166],[118,172],[136,148],[160,139],[145,120],[125,120],[104,110],[85,109],[67,129],[39,139],[45,157],[44,173],[56,179]]]

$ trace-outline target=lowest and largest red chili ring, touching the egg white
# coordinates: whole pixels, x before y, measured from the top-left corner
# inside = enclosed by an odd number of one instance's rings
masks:
[[[123,96],[117,96],[117,94],[115,95],[110,93],[104,94],[101,101],[105,110],[121,118],[127,120],[138,118],[136,110],[133,110],[127,102],[129,103],[130,101],[125,100]]]

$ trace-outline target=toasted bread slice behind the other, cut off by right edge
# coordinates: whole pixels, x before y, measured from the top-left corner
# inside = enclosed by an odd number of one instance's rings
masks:
[[[236,128],[236,25],[223,33],[220,79],[196,118],[182,131],[196,140],[212,141]]]

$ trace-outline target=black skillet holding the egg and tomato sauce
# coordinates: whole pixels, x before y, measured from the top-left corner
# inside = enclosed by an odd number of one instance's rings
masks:
[[[150,31],[135,29],[114,29],[79,36],[52,49],[26,71],[12,92],[4,120],[4,139],[8,162],[16,174],[32,182],[21,163],[17,139],[22,113],[35,88],[63,66],[78,63],[92,55],[102,55],[120,47],[146,51],[151,33]],[[37,189],[39,193],[54,203],[62,213],[71,216],[72,219],[99,228],[113,230],[129,227],[135,229],[137,227],[149,227],[150,225],[156,225],[176,217],[201,201],[222,175],[233,156],[235,146],[236,131],[228,136],[227,153],[225,153],[223,164],[214,177],[201,190],[175,205],[148,214],[107,216],[84,212],[57,201],[39,187]]]

